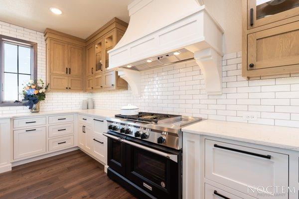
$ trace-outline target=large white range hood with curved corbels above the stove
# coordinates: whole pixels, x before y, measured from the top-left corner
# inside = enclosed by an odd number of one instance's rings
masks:
[[[204,5],[197,0],[134,0],[128,9],[129,26],[108,52],[109,69],[119,71],[134,95],[140,95],[138,71],[190,58],[203,71],[206,92],[222,93],[223,29]],[[173,55],[177,51],[181,56]]]

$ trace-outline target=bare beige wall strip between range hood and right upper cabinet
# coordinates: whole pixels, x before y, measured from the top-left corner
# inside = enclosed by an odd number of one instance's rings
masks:
[[[224,29],[223,52],[242,50],[242,0],[203,0],[207,10]]]

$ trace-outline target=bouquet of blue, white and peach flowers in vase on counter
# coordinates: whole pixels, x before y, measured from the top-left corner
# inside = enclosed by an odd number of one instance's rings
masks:
[[[45,100],[46,94],[49,87],[41,80],[29,80],[25,83],[23,88],[23,100],[25,106],[29,106],[31,112],[39,112],[39,101]]]

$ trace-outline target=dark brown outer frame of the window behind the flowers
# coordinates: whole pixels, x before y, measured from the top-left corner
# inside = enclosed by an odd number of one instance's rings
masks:
[[[3,77],[4,77],[4,45],[5,42],[12,42],[15,44],[32,46],[32,74],[33,79],[37,78],[37,43],[32,41],[27,41],[23,39],[18,39],[14,37],[9,37],[0,34],[0,106],[23,106],[21,102],[3,102]]]

